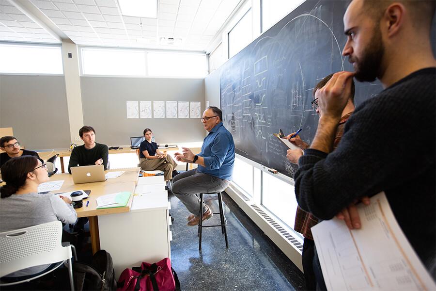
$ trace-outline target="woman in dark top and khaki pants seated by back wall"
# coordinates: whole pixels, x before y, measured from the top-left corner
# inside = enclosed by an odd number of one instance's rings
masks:
[[[151,129],[144,129],[145,141],[140,144],[140,166],[144,171],[164,171],[165,181],[169,181],[179,174],[175,168],[177,163],[168,156],[166,152],[157,149],[157,144],[152,142],[153,132]]]

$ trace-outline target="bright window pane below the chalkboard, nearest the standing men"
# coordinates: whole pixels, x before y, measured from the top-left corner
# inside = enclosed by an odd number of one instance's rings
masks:
[[[262,205],[294,229],[297,207],[295,188],[267,172],[262,173]]]

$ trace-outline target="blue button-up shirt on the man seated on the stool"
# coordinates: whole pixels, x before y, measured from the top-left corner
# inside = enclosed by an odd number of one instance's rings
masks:
[[[231,180],[234,166],[233,136],[222,122],[218,123],[204,138],[202,152],[205,167],[198,165],[200,173]]]

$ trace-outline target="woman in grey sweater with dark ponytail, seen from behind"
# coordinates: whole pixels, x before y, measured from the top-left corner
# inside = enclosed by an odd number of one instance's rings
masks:
[[[0,232],[56,220],[62,223],[76,222],[77,213],[68,197],[38,194],[38,185],[47,182],[49,178],[46,164],[36,157],[12,158],[2,165],[1,175],[6,185],[0,188]],[[23,269],[2,279],[24,279],[28,275],[44,273],[49,266]]]

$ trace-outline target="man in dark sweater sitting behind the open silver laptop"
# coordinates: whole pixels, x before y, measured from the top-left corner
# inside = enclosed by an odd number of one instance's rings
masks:
[[[73,148],[68,163],[68,172],[71,174],[71,167],[101,165],[108,169],[109,148],[95,142],[95,130],[90,126],[84,126],[79,130],[79,136],[84,142],[83,146]]]

